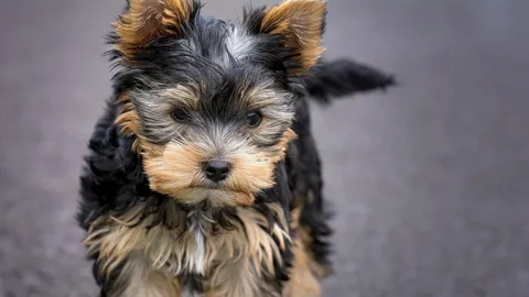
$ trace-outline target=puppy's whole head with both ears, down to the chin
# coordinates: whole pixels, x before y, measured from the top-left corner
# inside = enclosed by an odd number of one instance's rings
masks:
[[[323,0],[199,15],[191,0],[129,0],[111,35],[122,133],[150,187],[184,204],[251,205],[295,134],[292,78],[323,48]]]

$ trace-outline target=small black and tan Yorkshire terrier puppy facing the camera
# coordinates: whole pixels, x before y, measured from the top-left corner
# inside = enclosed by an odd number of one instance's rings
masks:
[[[325,11],[287,0],[225,22],[198,1],[127,1],[77,213],[101,297],[321,295],[331,230],[309,100],[395,82],[321,58]]]

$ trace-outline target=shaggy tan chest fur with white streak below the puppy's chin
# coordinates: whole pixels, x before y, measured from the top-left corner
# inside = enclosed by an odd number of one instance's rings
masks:
[[[261,208],[269,212],[240,208],[219,218],[168,207],[163,216],[142,218],[136,211],[101,218],[93,223],[85,244],[89,254],[98,256],[101,274],[121,271],[123,277],[116,286],[127,287],[131,296],[137,296],[136,287],[127,285],[131,283],[143,290],[181,290],[183,285],[255,296],[261,289],[258,275],[274,274],[290,241],[284,222],[269,221],[283,218],[280,206]]]

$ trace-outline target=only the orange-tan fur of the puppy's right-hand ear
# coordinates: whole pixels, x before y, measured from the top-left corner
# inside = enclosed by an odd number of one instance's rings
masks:
[[[262,20],[261,30],[285,36],[285,46],[300,53],[302,74],[316,64],[325,51],[322,43],[322,24],[325,16],[324,0],[287,0],[271,7]]]

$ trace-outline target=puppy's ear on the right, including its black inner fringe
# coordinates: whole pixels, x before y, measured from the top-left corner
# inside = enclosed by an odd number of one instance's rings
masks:
[[[281,4],[245,13],[252,33],[279,36],[291,52],[291,74],[306,73],[324,52],[325,0],[284,0]]]

